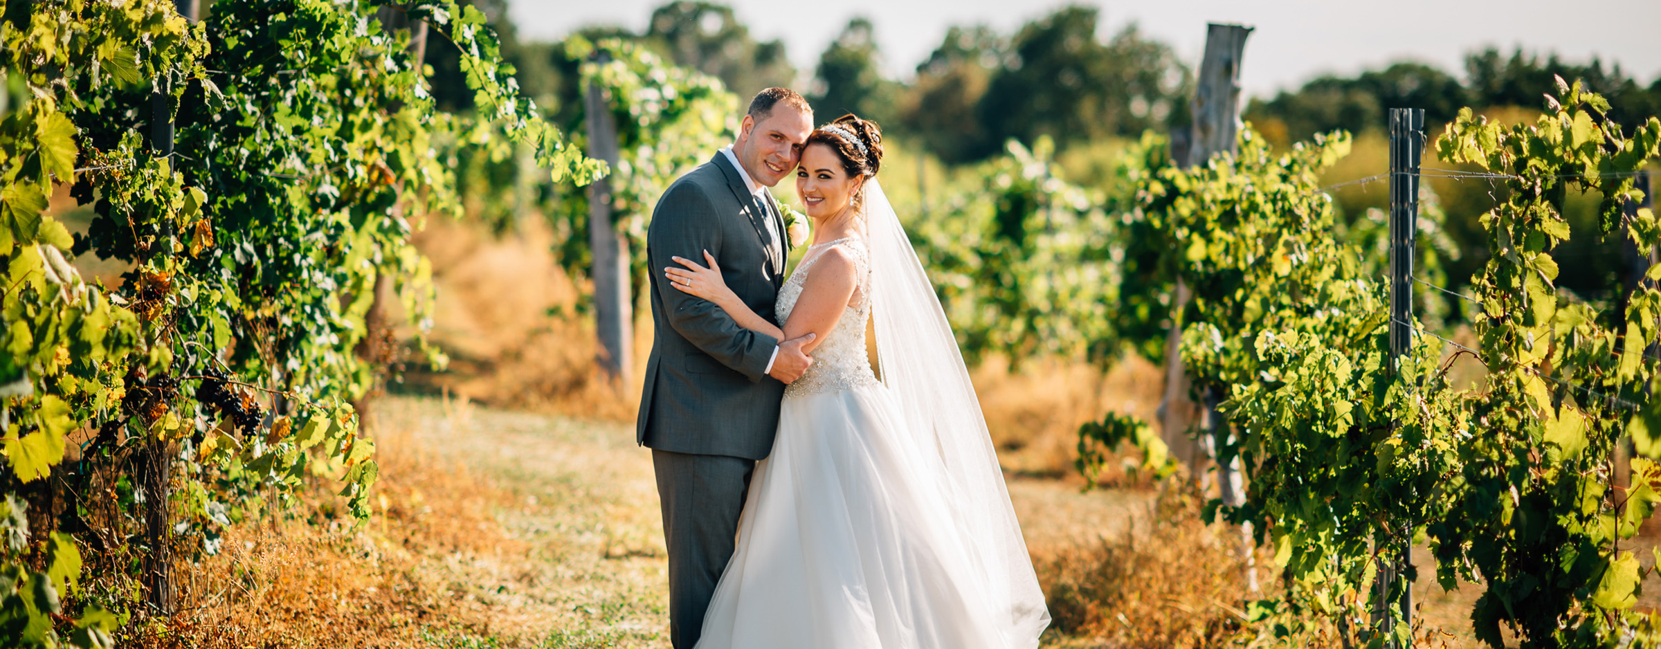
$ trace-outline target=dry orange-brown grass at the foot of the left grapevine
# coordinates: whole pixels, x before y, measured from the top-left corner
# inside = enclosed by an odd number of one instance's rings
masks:
[[[487,629],[498,611],[434,564],[523,553],[492,516],[508,495],[385,428],[369,521],[344,518],[337,486],[314,481],[294,510],[233,526],[219,554],[181,563],[179,612],[140,626],[138,646],[407,647]]]

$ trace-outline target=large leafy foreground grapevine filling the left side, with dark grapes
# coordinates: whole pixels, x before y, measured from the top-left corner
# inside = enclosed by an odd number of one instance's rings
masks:
[[[0,22],[5,637],[110,646],[140,611],[125,584],[149,584],[156,561],[171,561],[156,536],[174,534],[171,500],[188,501],[178,529],[204,553],[218,528],[307,475],[341,480],[365,516],[379,468],[349,403],[377,368],[352,347],[377,277],[392,279],[417,330],[429,317],[409,234],[427,214],[460,212],[442,161],[520,146],[551,181],[605,171],[517,96],[482,13],[389,7],[460,45],[477,115],[434,113],[409,33],[384,32],[364,2],[229,0],[189,23],[171,2],[45,0]],[[149,141],[163,121],[176,136]],[[43,214],[63,184],[96,214],[86,232]],[[105,287],[68,264],[81,254],[131,271]],[[60,473],[78,427],[96,433],[80,468]],[[55,529],[56,511],[25,516],[60,481],[140,456],[176,466],[148,473],[174,475],[176,496],[135,475],[158,491],[123,500],[115,518]],[[135,549],[149,559],[83,576],[71,534],[86,525],[116,531],[103,538],[141,528]]]

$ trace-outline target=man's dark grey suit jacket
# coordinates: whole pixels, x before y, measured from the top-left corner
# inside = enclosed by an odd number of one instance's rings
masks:
[[[646,231],[651,262],[651,359],[639,397],[636,442],[656,450],[762,460],[772,451],[784,383],[769,377],[779,345],[771,335],[733,322],[713,302],[669,285],[673,256],[706,264],[709,251],[728,287],[769,320],[784,284],[784,222],[777,206],[762,212],[742,176],[716,156],[681,176],[658,199]],[[779,242],[767,246],[766,221]]]

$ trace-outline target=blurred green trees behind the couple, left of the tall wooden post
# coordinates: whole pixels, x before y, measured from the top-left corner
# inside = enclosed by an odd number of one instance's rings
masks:
[[[581,61],[566,55],[563,41],[520,40],[505,0],[473,2],[497,28],[522,91],[555,123],[580,131]],[[1193,73],[1176,51],[1134,25],[1101,40],[1100,18],[1096,8],[1065,7],[1013,35],[952,27],[917,65],[912,83],[882,71],[877,25],[867,18],[852,18],[809,71],[789,61],[782,41],[757,40],[731,7],[711,2],[658,7],[639,33],[590,27],[573,37],[635,41],[666,61],[719,78],[741,98],[792,86],[819,113],[859,113],[892,134],[920,141],[947,163],[972,163],[1002,154],[1012,138],[1030,146],[1051,136],[1066,146],[1188,121]],[[470,108],[455,56],[453,46],[437,41],[427,53],[434,96],[450,111]]]

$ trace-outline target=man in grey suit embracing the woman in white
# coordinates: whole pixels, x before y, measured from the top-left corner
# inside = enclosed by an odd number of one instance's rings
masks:
[[[646,231],[653,345],[636,440],[651,448],[669,549],[669,641],[691,649],[704,609],[733,558],[737,518],[756,460],[772,451],[784,383],[807,370],[807,334],[774,340],[721,307],[669,285],[671,257],[709,251],[728,287],[756,314],[774,315],[784,284],[784,221],[766,188],[796,171],[814,113],[801,95],[767,88],[731,148],[681,176],[658,199]]]

